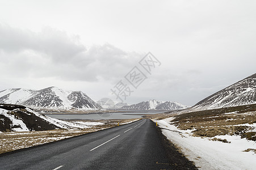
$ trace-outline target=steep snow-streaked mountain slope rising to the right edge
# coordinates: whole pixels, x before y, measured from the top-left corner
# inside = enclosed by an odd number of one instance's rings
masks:
[[[191,109],[216,109],[256,103],[256,74],[206,97]]]

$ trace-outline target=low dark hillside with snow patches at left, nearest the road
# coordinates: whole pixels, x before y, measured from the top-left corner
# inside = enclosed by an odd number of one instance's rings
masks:
[[[44,116],[22,105],[0,104],[0,131],[40,131],[87,128],[81,124]]]

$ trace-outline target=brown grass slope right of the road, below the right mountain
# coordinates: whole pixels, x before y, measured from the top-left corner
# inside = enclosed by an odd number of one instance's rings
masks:
[[[256,123],[256,104],[205,111],[189,111],[189,109],[187,109],[187,113],[184,113],[186,110],[182,112],[171,111],[149,116],[148,118],[162,120],[174,117],[171,124],[182,130],[192,130],[193,135],[196,137],[240,135],[241,138],[256,141],[256,127],[243,125]],[[217,138],[214,140],[219,141]]]

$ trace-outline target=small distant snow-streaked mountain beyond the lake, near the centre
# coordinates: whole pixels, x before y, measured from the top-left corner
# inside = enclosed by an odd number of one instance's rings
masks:
[[[121,109],[125,110],[177,110],[185,109],[186,106],[173,102],[173,101],[161,101],[161,100],[148,100],[142,101],[141,103],[124,106]]]

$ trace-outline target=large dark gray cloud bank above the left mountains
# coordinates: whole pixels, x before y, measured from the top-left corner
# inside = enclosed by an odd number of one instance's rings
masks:
[[[78,36],[51,28],[36,33],[0,24],[0,37],[1,71],[10,76],[116,81],[142,56],[111,44],[94,45],[87,50]]]

